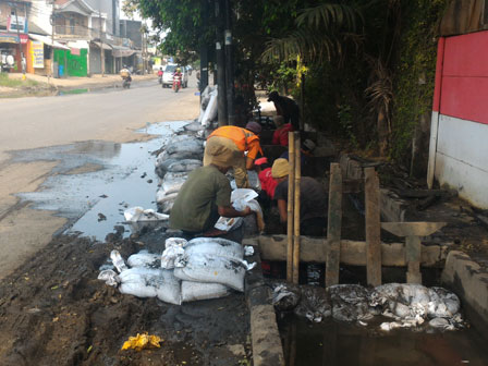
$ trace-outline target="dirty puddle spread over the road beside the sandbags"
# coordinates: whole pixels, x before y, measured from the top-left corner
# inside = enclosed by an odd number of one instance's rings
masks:
[[[15,162],[57,161],[37,192],[20,193],[34,208],[70,220],[66,233],[102,241],[115,225],[131,233],[123,211],[133,206],[156,209],[158,176],[152,151],[190,121],[161,122],[137,132],[154,135],[143,143],[100,141],[16,151]],[[73,173],[82,172],[82,173]],[[73,224],[74,222],[74,224]]]

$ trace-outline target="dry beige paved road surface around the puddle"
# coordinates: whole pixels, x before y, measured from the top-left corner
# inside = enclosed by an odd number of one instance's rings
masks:
[[[196,81],[174,93],[157,80],[58,97],[0,99],[0,278],[41,248],[65,219],[33,210],[15,193],[34,192],[57,161],[13,162],[9,151],[102,139],[144,138],[133,131],[146,123],[191,120],[198,115]]]

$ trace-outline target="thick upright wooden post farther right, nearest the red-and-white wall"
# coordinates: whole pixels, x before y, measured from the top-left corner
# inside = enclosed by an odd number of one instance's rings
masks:
[[[381,223],[379,208],[379,179],[375,168],[366,168],[366,272],[367,283],[371,286],[381,284]]]

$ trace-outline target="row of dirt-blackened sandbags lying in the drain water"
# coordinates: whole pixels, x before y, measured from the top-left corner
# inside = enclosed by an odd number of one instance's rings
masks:
[[[327,289],[279,283],[273,289],[278,310],[294,312],[310,321],[332,317],[365,326],[375,316],[383,321],[381,330],[431,328],[453,330],[464,326],[459,297],[443,288],[422,284],[388,283],[373,290],[359,284],[337,284]]]

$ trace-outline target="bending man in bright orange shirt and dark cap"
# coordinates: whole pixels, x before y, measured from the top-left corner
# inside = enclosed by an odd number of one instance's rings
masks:
[[[248,122],[245,129],[237,126],[222,126],[213,131],[207,138],[204,155],[204,167],[212,163],[212,159],[225,157],[229,166],[234,169],[235,184],[239,188],[247,188],[249,182],[247,170],[254,168],[254,160],[258,152],[263,155],[259,144],[261,126],[256,122]]]

